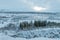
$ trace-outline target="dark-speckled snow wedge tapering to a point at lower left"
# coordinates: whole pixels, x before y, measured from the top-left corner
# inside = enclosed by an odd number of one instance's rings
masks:
[[[36,37],[46,37],[46,38],[60,38],[60,28],[46,28],[37,29],[30,31],[20,31],[15,35],[10,35],[11,37],[22,37],[22,38],[36,38]]]

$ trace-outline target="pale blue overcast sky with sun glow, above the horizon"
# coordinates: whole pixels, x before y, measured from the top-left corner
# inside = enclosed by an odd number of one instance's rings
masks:
[[[0,9],[12,11],[59,12],[60,0],[0,0]]]

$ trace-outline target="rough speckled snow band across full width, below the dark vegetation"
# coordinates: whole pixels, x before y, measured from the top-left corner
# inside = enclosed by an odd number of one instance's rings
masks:
[[[12,29],[12,28],[11,28]],[[0,30],[0,33],[4,33],[5,35],[8,35],[12,38],[38,38],[38,37],[44,37],[44,38],[60,38],[60,28],[39,28],[34,30]]]

